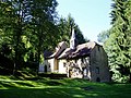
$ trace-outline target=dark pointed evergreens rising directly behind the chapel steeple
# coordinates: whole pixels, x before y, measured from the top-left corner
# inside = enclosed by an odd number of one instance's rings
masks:
[[[74,22],[74,19],[71,16],[71,14],[69,14],[67,19],[60,17],[58,28],[60,34],[59,41],[64,40],[69,44],[73,28],[76,34],[78,45],[86,41],[81,29],[79,28],[79,25]]]

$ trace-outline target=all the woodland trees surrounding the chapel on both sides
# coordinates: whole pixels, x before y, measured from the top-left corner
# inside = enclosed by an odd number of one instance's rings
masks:
[[[12,74],[26,68],[38,69],[44,51],[52,51],[59,41],[67,41],[74,28],[78,44],[85,39],[69,14],[59,17],[56,0],[0,0],[1,69]],[[102,32],[114,82],[131,82],[131,0],[112,0],[111,28]],[[3,60],[4,58],[4,60]],[[35,65],[34,65],[35,63]]]

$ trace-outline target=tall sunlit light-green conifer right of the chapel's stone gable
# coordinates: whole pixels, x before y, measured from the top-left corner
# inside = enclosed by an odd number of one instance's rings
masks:
[[[112,0],[112,27],[104,47],[115,82],[131,82],[131,0]]]

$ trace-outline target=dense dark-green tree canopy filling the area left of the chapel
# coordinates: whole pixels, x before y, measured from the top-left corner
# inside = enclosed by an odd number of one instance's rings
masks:
[[[32,53],[39,63],[44,47],[49,48],[50,39],[56,39],[56,0],[0,1],[1,36],[12,48],[15,72]]]

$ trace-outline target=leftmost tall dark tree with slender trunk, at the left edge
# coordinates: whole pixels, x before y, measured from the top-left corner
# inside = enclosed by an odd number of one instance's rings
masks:
[[[23,34],[23,2],[22,0],[3,0],[0,2],[1,26],[5,36],[10,38],[10,42],[14,48],[14,68],[19,69],[21,62],[21,35]]]

